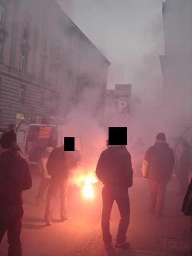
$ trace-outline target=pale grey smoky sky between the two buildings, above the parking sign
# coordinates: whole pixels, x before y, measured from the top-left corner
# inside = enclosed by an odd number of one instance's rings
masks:
[[[162,0],[57,1],[112,63],[108,88],[132,83],[139,96],[149,96],[161,87]]]

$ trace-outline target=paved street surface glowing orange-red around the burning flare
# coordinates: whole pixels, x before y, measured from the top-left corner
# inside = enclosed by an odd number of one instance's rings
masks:
[[[100,228],[102,186],[96,184],[96,200],[84,203],[80,190],[71,187],[69,195],[69,214],[71,220],[60,222],[59,195],[55,200],[54,221],[47,227],[44,223],[44,203],[34,206],[39,177],[33,176],[33,187],[24,193],[23,251],[24,256],[190,256],[192,235],[189,219],[180,212],[182,198],[176,196],[177,181],[168,185],[165,217],[156,219],[147,211],[147,181],[135,178],[130,189],[131,223],[127,240],[131,243],[129,251],[106,252],[102,243]],[[116,204],[111,214],[111,233],[113,244],[117,232],[119,212]],[[4,237],[0,245],[0,256],[7,252]]]

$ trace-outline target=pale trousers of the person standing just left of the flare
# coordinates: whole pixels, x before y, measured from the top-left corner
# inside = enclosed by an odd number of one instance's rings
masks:
[[[47,204],[46,204],[46,212],[45,212],[46,220],[52,219],[54,197],[56,196],[59,188],[60,188],[60,218],[62,219],[67,217],[68,187],[69,187],[68,180],[51,179],[50,185],[48,188],[48,194],[47,194]]]

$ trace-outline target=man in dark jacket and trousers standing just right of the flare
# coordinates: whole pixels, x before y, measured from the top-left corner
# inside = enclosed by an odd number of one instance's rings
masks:
[[[101,226],[106,249],[112,246],[109,220],[114,201],[118,204],[121,217],[116,247],[127,249],[130,246],[126,242],[126,232],[130,222],[128,188],[132,186],[132,175],[131,155],[126,146],[109,146],[101,153],[96,166],[96,176],[104,184]]]

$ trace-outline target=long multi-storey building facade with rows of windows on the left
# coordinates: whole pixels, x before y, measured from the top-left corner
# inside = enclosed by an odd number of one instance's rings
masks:
[[[65,117],[87,87],[106,91],[110,62],[55,0],[0,0],[0,128]]]

